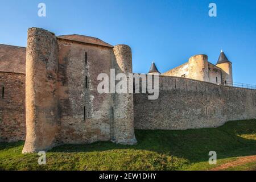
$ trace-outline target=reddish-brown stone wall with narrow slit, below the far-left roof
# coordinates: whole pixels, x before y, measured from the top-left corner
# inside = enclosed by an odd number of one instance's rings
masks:
[[[0,142],[25,137],[25,75],[0,72]]]

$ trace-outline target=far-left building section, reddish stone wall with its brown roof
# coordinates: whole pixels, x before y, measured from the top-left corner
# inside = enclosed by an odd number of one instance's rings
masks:
[[[26,137],[26,48],[0,44],[0,142]]]

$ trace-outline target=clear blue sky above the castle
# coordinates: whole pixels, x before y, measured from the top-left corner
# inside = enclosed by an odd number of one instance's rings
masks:
[[[26,46],[27,29],[56,35],[95,36],[133,49],[133,71],[146,73],[152,60],[160,72],[204,53],[216,63],[221,48],[237,82],[256,85],[256,1],[102,0],[0,1],[0,43]],[[44,2],[47,16],[38,16]],[[208,16],[209,3],[217,17]]]

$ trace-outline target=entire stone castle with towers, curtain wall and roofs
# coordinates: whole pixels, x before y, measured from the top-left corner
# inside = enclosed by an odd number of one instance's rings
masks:
[[[184,130],[256,118],[256,90],[232,86],[232,63],[221,51],[160,74],[159,98],[100,94],[100,73],[133,73],[131,49],[83,35],[29,28],[27,48],[0,44],[0,142],[26,140],[23,152],[59,144],[111,140],[135,144],[134,129]],[[25,86],[26,85],[26,86]],[[25,122],[26,121],[26,122]]]

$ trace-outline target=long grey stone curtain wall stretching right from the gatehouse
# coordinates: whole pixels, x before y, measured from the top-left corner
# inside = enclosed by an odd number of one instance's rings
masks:
[[[185,130],[256,118],[256,90],[159,77],[159,98],[134,94],[135,129]]]

